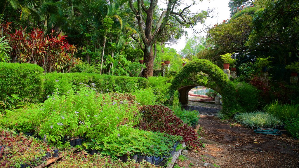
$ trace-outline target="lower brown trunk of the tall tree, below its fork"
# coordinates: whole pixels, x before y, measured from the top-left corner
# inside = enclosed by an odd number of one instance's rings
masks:
[[[152,52],[152,46],[145,46],[144,47],[144,56],[143,56],[144,63],[147,68],[143,70],[142,76],[145,78],[152,76],[153,70],[153,63],[154,63],[154,55]]]

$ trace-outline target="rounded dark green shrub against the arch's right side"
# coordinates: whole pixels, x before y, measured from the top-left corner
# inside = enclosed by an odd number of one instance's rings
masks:
[[[253,112],[259,105],[259,90],[254,86],[242,82],[236,83],[237,101],[244,111]]]

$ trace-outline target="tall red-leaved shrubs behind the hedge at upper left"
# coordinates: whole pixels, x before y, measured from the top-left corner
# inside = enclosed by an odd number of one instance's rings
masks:
[[[45,36],[42,30],[34,28],[26,33],[22,27],[12,32],[11,22],[0,25],[2,36],[6,36],[12,51],[12,62],[27,62],[41,66],[45,71],[60,71],[71,68],[76,62],[73,57],[77,52],[74,45],[68,44],[65,35],[61,33],[54,36],[54,31]],[[68,71],[67,70],[67,71]]]

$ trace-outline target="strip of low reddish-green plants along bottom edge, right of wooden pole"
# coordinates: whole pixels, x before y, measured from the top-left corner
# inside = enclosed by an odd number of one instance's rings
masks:
[[[63,160],[55,162],[51,167],[52,168],[155,168],[155,165],[150,164],[149,162],[135,163],[135,161],[112,161],[109,157],[103,157],[101,155],[83,155],[81,153],[68,153],[63,156]],[[82,159],[85,158],[85,159]]]

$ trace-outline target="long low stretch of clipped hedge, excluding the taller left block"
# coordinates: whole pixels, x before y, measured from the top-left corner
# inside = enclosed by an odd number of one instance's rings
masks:
[[[59,80],[58,82],[55,82]],[[83,83],[91,85],[93,83],[97,91],[103,92],[131,92],[143,89],[147,85],[147,79],[142,77],[111,76],[89,73],[47,73],[45,75],[44,97],[52,94],[57,84],[60,93],[65,94],[73,86],[76,87]]]

